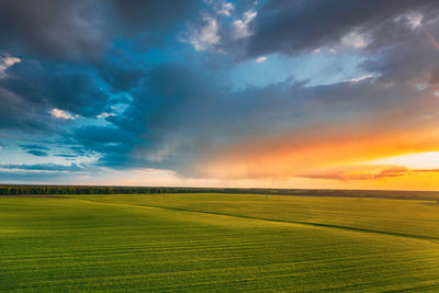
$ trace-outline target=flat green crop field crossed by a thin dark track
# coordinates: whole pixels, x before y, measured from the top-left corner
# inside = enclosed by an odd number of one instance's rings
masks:
[[[1,291],[439,291],[439,205],[249,194],[0,196]]]

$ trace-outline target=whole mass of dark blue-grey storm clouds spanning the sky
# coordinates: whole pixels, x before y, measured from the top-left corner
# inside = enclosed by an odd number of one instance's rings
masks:
[[[218,32],[222,44],[230,45],[223,53],[240,60],[270,53],[297,56],[334,46],[352,31],[364,33],[368,44],[358,53],[365,59],[361,69],[371,76],[360,81],[309,86],[288,80],[237,91],[221,82],[221,57],[206,57],[216,67],[191,60],[151,66],[132,48],[108,49],[113,37],[144,48],[164,45],[173,30],[185,27],[187,18],[199,15],[196,5],[185,0],[0,0],[0,53],[22,58],[0,77],[0,127],[54,132],[68,148],[59,157],[92,155],[105,167],[185,174],[200,157],[249,137],[319,123],[373,120],[404,127],[437,106],[416,86],[439,79],[438,50],[420,27],[397,19],[418,12],[437,32],[437,1],[266,1],[249,24],[254,34],[248,38],[234,40],[227,25],[227,32]],[[235,5],[236,13],[249,9],[249,1]],[[424,76],[426,81],[417,80]],[[112,108],[117,103],[124,104],[119,112]],[[99,121],[104,125],[83,125],[52,117],[53,109],[91,119],[113,115]],[[63,125],[68,127],[60,131]],[[46,150],[21,147],[33,155]],[[77,165],[1,168],[82,170]]]

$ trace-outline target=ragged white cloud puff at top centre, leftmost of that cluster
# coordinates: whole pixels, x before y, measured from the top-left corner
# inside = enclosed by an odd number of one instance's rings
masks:
[[[191,30],[189,40],[182,40],[190,43],[195,50],[206,50],[219,44],[218,24],[215,19],[204,16],[206,24],[201,30]]]

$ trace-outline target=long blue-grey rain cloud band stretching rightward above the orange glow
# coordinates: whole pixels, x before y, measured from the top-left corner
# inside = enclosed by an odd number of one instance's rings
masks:
[[[177,64],[155,67],[146,80],[132,92],[128,109],[108,119],[114,126],[87,126],[74,134],[87,149],[102,155],[99,164],[187,173],[204,151],[222,145],[318,123],[381,120],[403,111],[418,94],[410,84],[390,87],[380,78],[315,87],[288,81],[237,92],[221,86],[215,76]],[[405,111],[413,119],[394,123],[412,123],[416,111]]]

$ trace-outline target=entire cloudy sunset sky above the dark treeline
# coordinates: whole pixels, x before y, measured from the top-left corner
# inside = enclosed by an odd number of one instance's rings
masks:
[[[0,183],[439,190],[437,0],[1,0]]]

